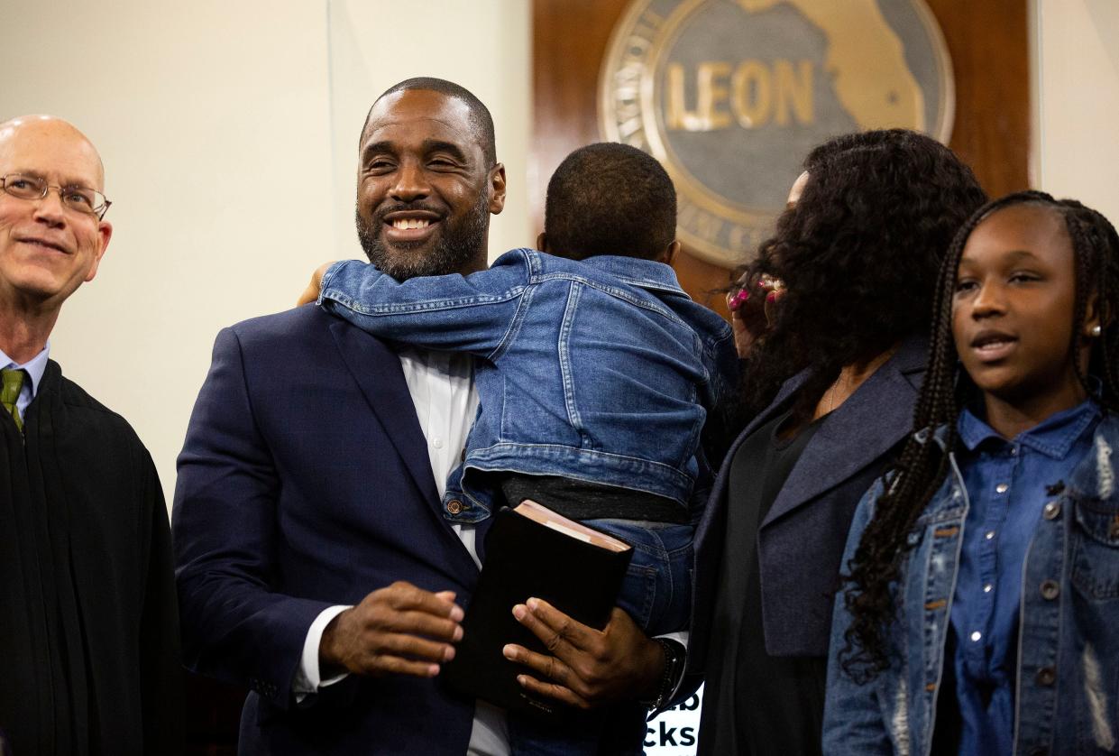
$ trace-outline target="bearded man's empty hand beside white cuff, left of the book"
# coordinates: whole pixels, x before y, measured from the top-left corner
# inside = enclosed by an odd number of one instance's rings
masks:
[[[454,657],[462,638],[462,608],[454,594],[397,581],[375,590],[327,625],[319,643],[322,676],[346,671],[433,678]]]

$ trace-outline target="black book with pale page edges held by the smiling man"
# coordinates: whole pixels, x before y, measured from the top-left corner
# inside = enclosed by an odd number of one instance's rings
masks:
[[[486,563],[462,620],[462,641],[440,678],[453,691],[537,719],[558,720],[563,703],[533,696],[518,674],[539,675],[501,655],[516,643],[546,654],[513,607],[542,598],[573,619],[606,626],[633,549],[624,541],[525,501],[501,508],[486,535]]]

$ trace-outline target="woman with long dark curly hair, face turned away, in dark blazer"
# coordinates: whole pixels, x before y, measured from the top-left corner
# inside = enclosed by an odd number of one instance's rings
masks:
[[[744,361],[751,419],[696,534],[702,754],[819,752],[847,529],[910,428],[937,270],[986,199],[948,148],[912,131],[840,137],[805,167],[747,272],[751,296],[762,274],[783,296]]]

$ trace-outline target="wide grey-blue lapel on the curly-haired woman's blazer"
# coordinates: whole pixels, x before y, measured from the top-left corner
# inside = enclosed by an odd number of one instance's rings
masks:
[[[925,360],[924,339],[908,339],[885,365],[824,421],[805,447],[762,522],[843,483],[905,438]]]

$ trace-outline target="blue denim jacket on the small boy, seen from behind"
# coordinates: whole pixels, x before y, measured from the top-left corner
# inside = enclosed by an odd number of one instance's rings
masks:
[[[524,249],[467,277],[397,282],[351,260],[323,276],[319,304],[383,338],[481,357],[478,417],[443,497],[450,519],[492,508],[488,489],[463,480],[469,468],[563,475],[681,506],[709,475],[699,432],[733,385],[734,340],[664,263]]]

